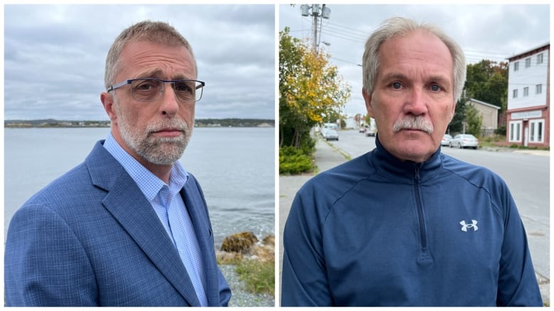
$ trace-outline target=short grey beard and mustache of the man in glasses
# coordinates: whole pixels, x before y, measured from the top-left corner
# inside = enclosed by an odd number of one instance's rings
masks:
[[[116,110],[119,115],[118,125],[121,138],[139,157],[151,164],[171,165],[183,156],[192,135],[192,128],[189,128],[185,121],[178,119],[156,120],[156,122],[146,125],[146,128],[141,130],[131,126],[133,121],[127,120],[126,115],[121,113],[119,105],[116,105]],[[183,135],[179,137],[152,136],[153,132],[163,128],[181,130]]]

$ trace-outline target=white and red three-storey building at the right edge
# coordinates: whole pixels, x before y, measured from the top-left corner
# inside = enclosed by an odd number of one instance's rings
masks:
[[[550,43],[509,59],[506,140],[550,147]]]

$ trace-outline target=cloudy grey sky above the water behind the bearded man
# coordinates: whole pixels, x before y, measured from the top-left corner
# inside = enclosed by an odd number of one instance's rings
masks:
[[[275,6],[6,5],[4,118],[108,120],[99,96],[121,30],[150,19],[192,45],[196,118],[275,117]]]

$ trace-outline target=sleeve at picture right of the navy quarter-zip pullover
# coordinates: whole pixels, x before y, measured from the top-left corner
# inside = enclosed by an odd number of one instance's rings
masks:
[[[498,306],[543,306],[526,232],[516,203],[505,189],[504,243],[500,259]]]

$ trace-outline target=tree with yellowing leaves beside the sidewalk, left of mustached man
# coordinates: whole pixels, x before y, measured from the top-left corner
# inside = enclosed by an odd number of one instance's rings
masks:
[[[308,43],[279,32],[279,146],[303,148],[310,129],[323,123],[322,115],[340,111],[350,96],[330,55],[313,52]]]

